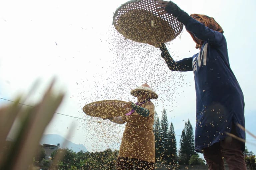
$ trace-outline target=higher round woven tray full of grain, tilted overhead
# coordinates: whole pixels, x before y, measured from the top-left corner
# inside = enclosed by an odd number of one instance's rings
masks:
[[[182,31],[183,24],[172,14],[159,15],[157,1],[132,0],[114,13],[113,25],[125,38],[151,45],[169,42]]]

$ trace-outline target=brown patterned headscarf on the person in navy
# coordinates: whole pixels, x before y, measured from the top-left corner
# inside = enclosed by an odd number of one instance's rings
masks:
[[[193,19],[199,21],[200,23],[204,24],[206,27],[218,31],[220,33],[224,33],[221,26],[214,20],[212,17],[208,17],[207,15],[201,15],[201,14],[191,14],[190,15]],[[189,32],[189,31],[188,31]],[[201,48],[203,45],[203,41],[198,42],[198,40],[195,39],[195,35],[191,32],[189,32],[191,37],[193,38],[194,42],[196,42],[196,48]]]

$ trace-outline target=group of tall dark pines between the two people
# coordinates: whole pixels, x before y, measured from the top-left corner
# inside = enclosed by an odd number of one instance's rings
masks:
[[[177,141],[173,124],[170,127],[166,110],[163,109],[161,121],[155,112],[153,131],[155,135],[156,162],[171,165],[203,165],[205,161],[195,152],[193,128],[188,120],[182,130],[180,149],[177,150]]]

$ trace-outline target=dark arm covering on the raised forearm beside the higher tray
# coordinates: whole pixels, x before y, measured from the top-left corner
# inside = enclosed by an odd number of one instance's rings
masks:
[[[187,24],[188,20],[191,18],[186,12],[184,12],[178,5],[169,1],[165,7],[165,11],[177,17],[178,21],[182,22],[184,25]]]

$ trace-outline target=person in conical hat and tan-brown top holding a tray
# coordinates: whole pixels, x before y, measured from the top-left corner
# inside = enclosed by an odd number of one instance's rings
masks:
[[[147,83],[131,90],[138,102],[128,102],[131,111],[121,117],[110,118],[117,124],[124,124],[122,142],[116,162],[117,170],[153,170],[155,163],[155,136],[153,133],[155,106],[151,99],[158,95]]]

